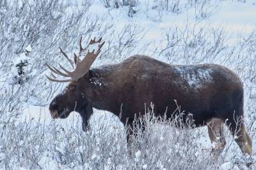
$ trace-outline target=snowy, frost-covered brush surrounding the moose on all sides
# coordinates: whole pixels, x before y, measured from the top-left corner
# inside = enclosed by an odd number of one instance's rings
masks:
[[[145,108],[128,150],[127,127],[111,113],[95,110],[92,130],[83,132],[77,113],[52,120],[47,111],[66,84],[48,81],[45,63],[68,67],[58,46],[72,56],[80,36],[84,43],[103,37],[94,67],[137,53],[169,64],[230,67],[244,83],[246,125],[255,146],[255,23],[240,29],[220,24],[214,16],[225,16],[225,8],[256,6],[231,0],[0,1],[0,169],[248,169],[255,154],[243,155],[227,132],[227,146],[216,157],[207,129],[189,128],[191,117],[177,128],[179,118],[155,118]],[[182,114],[179,103],[176,111]]]

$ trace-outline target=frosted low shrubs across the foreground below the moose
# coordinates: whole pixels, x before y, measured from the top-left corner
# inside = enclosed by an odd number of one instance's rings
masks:
[[[182,109],[177,113],[182,114]],[[129,127],[113,120],[90,124],[92,129],[83,132],[76,119],[67,125],[33,118],[12,122],[0,138],[0,168],[220,169],[227,164],[246,167],[250,160],[237,154],[227,163],[226,154],[234,139],[230,139],[220,159],[216,158],[202,141],[208,138],[207,133],[191,129],[191,117],[186,122],[179,116],[166,120],[149,111],[134,121],[136,135],[131,136],[129,145],[125,133]],[[238,151],[236,146],[231,152]]]

